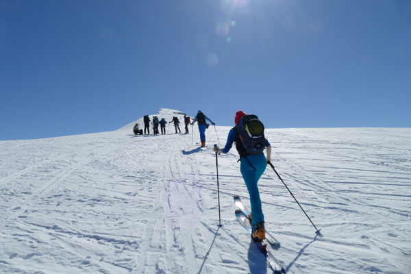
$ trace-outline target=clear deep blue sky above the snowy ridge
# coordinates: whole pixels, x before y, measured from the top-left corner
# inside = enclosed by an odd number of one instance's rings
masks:
[[[233,125],[411,127],[411,1],[0,0],[0,140],[160,108]]]

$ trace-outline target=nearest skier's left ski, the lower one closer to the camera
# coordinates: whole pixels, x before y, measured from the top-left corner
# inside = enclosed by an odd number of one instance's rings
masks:
[[[251,236],[253,228],[251,227],[251,223],[248,219],[248,216],[246,216],[244,212],[242,212],[241,210],[236,210],[236,219],[238,223],[240,223],[242,227],[244,227],[245,230],[247,230],[247,232]],[[267,246],[266,240],[262,240],[261,242],[254,242],[254,243],[257,245],[258,249],[260,249],[260,251],[264,254],[267,262],[269,262],[269,265],[271,269],[273,269],[275,274],[286,273],[286,270],[281,266],[281,264],[279,264],[277,258],[274,257],[273,253]]]

